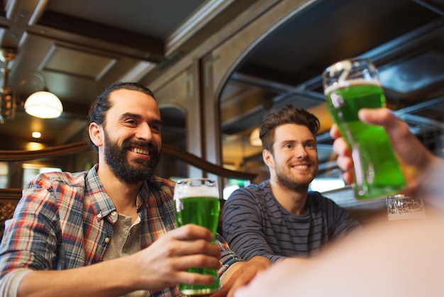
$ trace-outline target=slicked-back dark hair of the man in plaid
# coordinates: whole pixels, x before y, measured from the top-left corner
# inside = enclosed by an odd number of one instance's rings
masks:
[[[108,88],[105,89],[105,91],[97,96],[96,100],[94,100],[93,103],[91,103],[91,107],[89,108],[89,124],[91,123],[97,123],[99,125],[104,125],[106,121],[106,111],[111,108],[111,101],[109,100],[109,95],[113,91],[117,91],[120,89],[126,89],[131,91],[140,91],[144,94],[147,94],[149,96],[152,96],[152,98],[155,99],[154,94],[152,94],[152,91],[148,89],[143,84],[139,84],[138,82],[116,82],[114,84],[111,84]],[[93,146],[94,150],[97,150],[97,146],[94,145],[94,143],[91,141],[91,138],[89,138],[89,141],[91,142],[91,145]]]

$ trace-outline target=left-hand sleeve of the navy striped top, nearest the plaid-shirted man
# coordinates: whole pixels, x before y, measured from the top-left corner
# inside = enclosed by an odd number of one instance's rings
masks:
[[[245,260],[262,256],[276,262],[286,257],[274,254],[262,228],[262,213],[250,192],[238,189],[223,206],[223,236]]]

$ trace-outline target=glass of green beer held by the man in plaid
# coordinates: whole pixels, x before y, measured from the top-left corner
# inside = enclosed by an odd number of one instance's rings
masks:
[[[204,226],[213,232],[213,242],[219,222],[219,193],[216,181],[212,179],[181,179],[174,188],[176,203],[176,223],[180,227],[186,224]],[[189,272],[213,276],[211,285],[179,284],[179,292],[191,296],[210,295],[219,290],[219,278],[216,269],[195,267]]]

